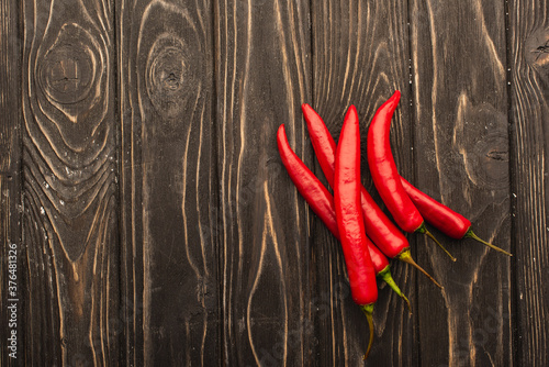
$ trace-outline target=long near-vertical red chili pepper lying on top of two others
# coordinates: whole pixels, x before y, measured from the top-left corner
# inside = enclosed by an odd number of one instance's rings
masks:
[[[366,359],[373,341],[372,312],[378,287],[370,253],[365,246],[365,221],[360,210],[360,133],[354,105],[345,115],[337,145],[334,203],[352,299],[365,312],[370,326]]]

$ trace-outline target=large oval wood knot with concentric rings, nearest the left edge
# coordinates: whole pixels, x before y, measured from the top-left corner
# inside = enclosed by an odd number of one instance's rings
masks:
[[[81,167],[112,136],[105,119],[111,103],[109,40],[77,23],[52,25],[30,65],[27,99],[36,126],[66,165]]]

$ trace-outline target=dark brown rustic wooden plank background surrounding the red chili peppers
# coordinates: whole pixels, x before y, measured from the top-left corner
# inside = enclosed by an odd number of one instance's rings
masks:
[[[301,103],[336,138],[356,104],[366,136],[395,89],[401,174],[515,256],[408,235],[445,291],[393,263],[414,312],[382,287],[366,365],[549,365],[547,1],[0,4],[1,365],[361,366],[274,135],[322,176]]]

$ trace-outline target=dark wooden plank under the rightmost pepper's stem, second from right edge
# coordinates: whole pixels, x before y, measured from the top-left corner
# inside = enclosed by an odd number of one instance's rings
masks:
[[[509,249],[505,9],[503,1],[411,2],[416,186]],[[509,258],[434,232],[457,257],[422,241],[445,287],[419,289],[421,364],[513,362]]]

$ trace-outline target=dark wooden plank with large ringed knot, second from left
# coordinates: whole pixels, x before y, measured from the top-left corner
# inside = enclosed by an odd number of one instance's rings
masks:
[[[109,1],[24,1],[29,365],[114,365],[119,241]]]

